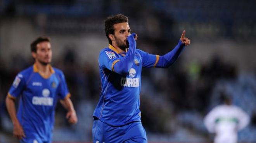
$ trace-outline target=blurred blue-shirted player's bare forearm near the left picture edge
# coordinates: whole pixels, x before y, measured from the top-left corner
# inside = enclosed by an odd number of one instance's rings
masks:
[[[16,116],[16,108],[15,108],[14,99],[11,99],[9,96],[7,96],[5,99],[5,103],[6,103],[7,111],[12,120],[12,124],[14,126],[13,135],[16,136],[18,139],[22,139],[23,137],[26,137],[25,133],[23,131],[23,128],[22,128],[21,124],[19,123],[19,120],[17,119],[17,116]]]

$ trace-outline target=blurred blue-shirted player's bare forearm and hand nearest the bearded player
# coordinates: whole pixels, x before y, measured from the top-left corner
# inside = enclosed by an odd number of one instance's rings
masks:
[[[62,106],[67,109],[66,118],[68,119],[69,123],[76,124],[77,123],[77,116],[76,111],[74,109],[73,103],[70,98],[64,98],[60,100]]]

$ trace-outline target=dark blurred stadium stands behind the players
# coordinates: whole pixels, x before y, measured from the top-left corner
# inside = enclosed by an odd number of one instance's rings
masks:
[[[255,0],[0,0],[0,143],[16,143],[5,96],[16,74],[33,64],[29,45],[51,37],[52,65],[62,69],[78,114],[70,126],[58,104],[55,143],[92,141],[99,99],[98,55],[108,45],[104,19],[129,17],[137,46],[164,54],[182,30],[191,45],[168,69],[142,71],[142,124],[151,143],[211,143],[203,118],[232,95],[251,122],[239,142],[256,142]]]

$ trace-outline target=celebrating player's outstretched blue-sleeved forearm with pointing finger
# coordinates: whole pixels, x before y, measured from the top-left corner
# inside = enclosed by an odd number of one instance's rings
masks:
[[[164,56],[159,56],[159,61],[157,62],[156,67],[167,68],[171,66],[176,61],[176,59],[178,59],[184,47],[190,44],[190,40],[185,37],[185,33],[186,31],[183,30],[180,41],[173,50]]]

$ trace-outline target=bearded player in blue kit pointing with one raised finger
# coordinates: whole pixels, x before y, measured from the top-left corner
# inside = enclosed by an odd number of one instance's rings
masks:
[[[102,92],[93,113],[93,143],[147,143],[139,109],[142,67],[169,67],[190,40],[184,30],[171,52],[146,53],[137,49],[137,35],[131,34],[128,17],[122,14],[106,19],[105,32],[109,47],[99,55]]]

